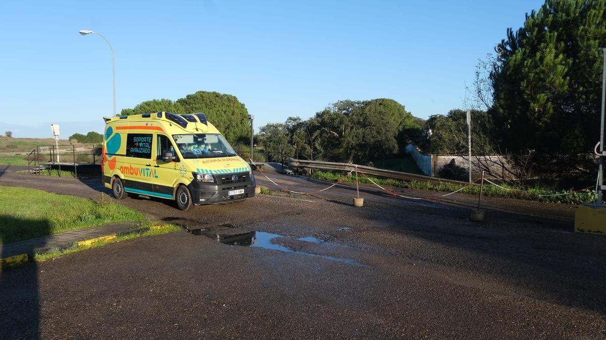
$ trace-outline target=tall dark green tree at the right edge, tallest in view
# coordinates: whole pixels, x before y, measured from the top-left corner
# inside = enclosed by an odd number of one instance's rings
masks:
[[[536,174],[593,171],[599,138],[606,1],[547,0],[507,30],[490,74],[493,140],[533,155]]]

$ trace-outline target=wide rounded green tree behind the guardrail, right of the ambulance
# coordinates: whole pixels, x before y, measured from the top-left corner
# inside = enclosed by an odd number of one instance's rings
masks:
[[[398,138],[410,128],[420,129],[395,100],[339,100],[308,120],[265,125],[260,137],[268,145],[281,143],[290,156],[364,163],[396,154]]]

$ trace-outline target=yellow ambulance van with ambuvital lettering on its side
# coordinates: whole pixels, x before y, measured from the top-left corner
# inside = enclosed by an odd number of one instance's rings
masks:
[[[104,117],[102,172],[118,199],[146,195],[194,204],[255,195],[250,166],[203,113]]]

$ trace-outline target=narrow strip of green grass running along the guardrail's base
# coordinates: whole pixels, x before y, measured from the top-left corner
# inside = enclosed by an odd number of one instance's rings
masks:
[[[327,180],[327,181],[338,181],[343,174],[330,172],[330,171],[315,171],[311,177],[317,178],[319,180]],[[444,192],[453,192],[455,190],[461,189],[460,185],[452,184],[452,183],[431,183],[431,182],[421,182],[421,181],[401,181],[395,180],[393,178],[378,178],[369,176],[375,183],[381,186],[394,186],[397,188],[405,188],[405,189],[419,189],[419,190],[431,190],[431,191],[444,191]],[[358,176],[358,180],[360,183],[372,184],[370,181],[364,177],[363,175]],[[355,175],[351,175],[350,177],[344,178],[342,180],[344,183],[355,183],[356,177]],[[484,191],[483,195],[492,196],[492,197],[505,197],[505,198],[521,198],[523,200],[532,200],[539,202],[549,202],[549,203],[567,203],[567,204],[583,204],[583,203],[591,203],[595,199],[595,192],[591,190],[583,190],[579,192],[575,192],[573,190],[568,191],[554,191],[551,189],[545,188],[530,188],[530,189],[522,189],[516,188],[510,185],[502,184],[501,186],[510,189],[507,191],[505,189],[498,188],[497,186],[493,186],[490,183],[484,183]],[[478,185],[470,186],[468,188],[460,191],[463,194],[471,194],[478,195],[480,192],[480,187]],[[554,194],[564,194],[559,196],[540,196],[540,195],[554,195]]]

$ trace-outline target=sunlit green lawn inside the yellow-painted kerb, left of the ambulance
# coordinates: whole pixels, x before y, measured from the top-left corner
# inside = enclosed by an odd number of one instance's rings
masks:
[[[106,195],[88,198],[0,186],[0,244],[103,224],[144,221],[140,212]]]

